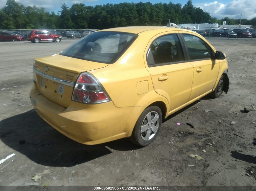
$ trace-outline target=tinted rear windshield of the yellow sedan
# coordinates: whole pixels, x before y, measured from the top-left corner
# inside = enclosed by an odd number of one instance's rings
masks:
[[[97,32],[79,40],[60,55],[111,64],[115,62],[138,37],[133,33]]]

